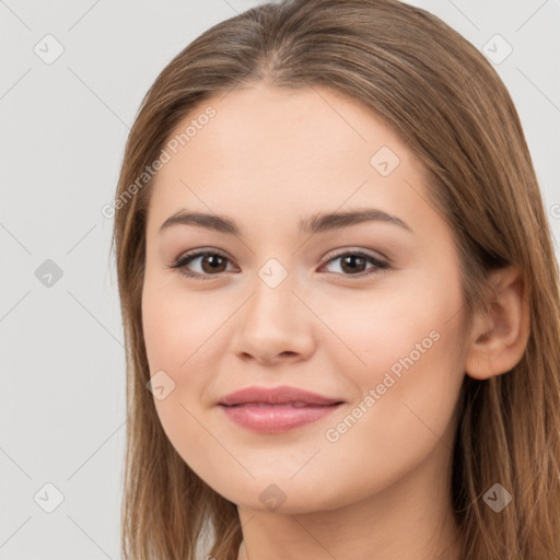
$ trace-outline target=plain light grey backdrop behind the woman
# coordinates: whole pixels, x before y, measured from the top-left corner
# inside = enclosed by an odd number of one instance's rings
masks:
[[[113,221],[101,209],[158,73],[210,25],[258,3],[0,0],[2,560],[119,558],[125,358]],[[480,50],[495,34],[512,46],[495,68],[558,240],[560,1],[410,3]],[[62,55],[46,63],[58,44]]]

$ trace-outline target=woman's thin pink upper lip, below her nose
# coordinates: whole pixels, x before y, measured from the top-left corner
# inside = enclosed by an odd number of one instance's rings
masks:
[[[267,405],[288,405],[304,402],[306,405],[335,405],[341,399],[329,398],[316,393],[282,385],[281,387],[245,387],[222,397],[219,405],[234,406],[247,402],[264,402]]]

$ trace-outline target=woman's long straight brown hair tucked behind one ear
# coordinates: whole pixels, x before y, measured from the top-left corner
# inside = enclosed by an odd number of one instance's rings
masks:
[[[487,304],[490,270],[513,264],[522,271],[529,340],[506,374],[465,376],[450,490],[463,560],[557,559],[559,270],[529,151],[486,58],[436,16],[397,0],[288,0],[247,10],[188,45],[142,102],[126,145],[112,245],[127,351],[125,558],[194,560],[210,535],[203,552],[235,560],[242,540],[235,505],[180,458],[147,389],[141,291],[152,180],[143,173],[195,107],[259,81],[331,88],[400,135],[424,163],[432,202],[453,229],[470,316]],[[513,497],[500,513],[482,499],[497,482]]]

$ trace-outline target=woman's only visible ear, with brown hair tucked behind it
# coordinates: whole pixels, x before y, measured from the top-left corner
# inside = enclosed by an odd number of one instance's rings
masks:
[[[487,312],[477,315],[470,331],[465,371],[487,380],[512,370],[522,359],[529,337],[529,304],[523,276],[510,266],[490,275],[494,293]]]

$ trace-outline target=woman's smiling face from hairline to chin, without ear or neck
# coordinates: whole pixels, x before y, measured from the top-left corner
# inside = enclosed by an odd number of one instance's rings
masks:
[[[155,407],[189,467],[236,504],[288,513],[444,477],[465,307],[452,232],[417,158],[327,89],[236,89],[168,140],[143,329]],[[179,213],[206,218],[162,228]],[[280,386],[338,404],[219,404]]]

